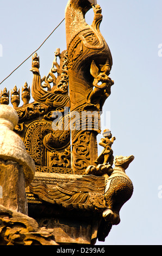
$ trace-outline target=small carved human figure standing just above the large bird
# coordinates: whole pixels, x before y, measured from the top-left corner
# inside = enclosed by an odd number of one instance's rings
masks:
[[[115,137],[112,138],[111,131],[109,129],[105,129],[103,131],[104,138],[101,139],[99,142],[99,145],[104,147],[101,155],[97,158],[95,161],[96,164],[104,164],[109,163],[111,166],[113,166],[114,156],[113,156],[113,150],[111,149],[111,145],[115,141]]]

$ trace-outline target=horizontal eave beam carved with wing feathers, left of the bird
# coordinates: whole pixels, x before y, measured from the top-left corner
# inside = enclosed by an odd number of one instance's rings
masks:
[[[105,179],[94,175],[36,172],[27,189],[28,203],[57,204],[67,210],[103,211]]]

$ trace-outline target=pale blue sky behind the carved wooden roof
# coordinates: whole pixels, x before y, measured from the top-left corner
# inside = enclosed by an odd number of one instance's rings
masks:
[[[67,0],[1,0],[0,80],[26,59],[64,19]],[[162,245],[161,168],[161,0],[98,0],[103,9],[101,32],[112,56],[115,84],[103,111],[111,113],[116,137],[114,155],[135,156],[126,170],[134,184],[132,198],[121,209],[121,223],[102,245]],[[86,16],[91,23],[92,12]],[[66,50],[65,22],[38,51],[41,76],[51,68],[54,51]],[[0,88],[32,85],[32,58]],[[99,138],[98,138],[99,140]],[[100,153],[102,148],[98,147]],[[99,154],[98,153],[98,154]]]

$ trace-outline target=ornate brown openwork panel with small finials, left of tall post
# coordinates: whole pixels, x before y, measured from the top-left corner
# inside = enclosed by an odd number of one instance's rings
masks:
[[[58,60],[59,58],[59,64]],[[23,105],[20,104],[20,89],[11,90],[10,101],[18,114],[18,124],[14,131],[20,135],[28,154],[35,162],[39,172],[71,173],[71,148],[68,96],[67,51],[54,53],[52,68],[47,76],[41,78],[40,58],[32,57],[33,83],[30,101],[30,86],[24,83],[21,92]],[[1,104],[9,104],[9,92],[1,90]],[[61,130],[53,130],[52,124],[61,113]],[[67,118],[66,118],[67,117]],[[65,126],[66,129],[65,129]]]

